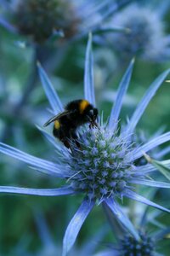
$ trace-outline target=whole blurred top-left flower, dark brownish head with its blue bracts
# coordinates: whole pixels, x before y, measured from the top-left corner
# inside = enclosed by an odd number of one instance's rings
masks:
[[[66,1],[66,0],[13,0],[11,24],[0,23],[10,32],[29,36],[33,42],[44,43],[51,38],[80,38],[100,24],[108,15],[128,1]],[[9,9],[9,8],[8,8]]]

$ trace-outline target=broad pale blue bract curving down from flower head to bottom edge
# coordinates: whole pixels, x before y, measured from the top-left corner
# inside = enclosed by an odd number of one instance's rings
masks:
[[[77,239],[77,235],[82,227],[82,224],[88,217],[88,213],[91,212],[93,207],[94,201],[82,201],[82,205],[71,219],[71,222],[65,231],[65,237],[63,240],[63,256],[65,256],[70,251],[71,247]]]

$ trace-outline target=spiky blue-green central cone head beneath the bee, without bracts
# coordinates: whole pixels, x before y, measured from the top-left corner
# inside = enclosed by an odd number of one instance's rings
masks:
[[[127,180],[133,176],[133,155],[130,136],[114,133],[105,125],[93,130],[87,128],[80,134],[81,150],[74,148],[68,164],[72,176],[71,186],[98,199],[122,195],[127,188]],[[125,156],[129,154],[128,158]]]

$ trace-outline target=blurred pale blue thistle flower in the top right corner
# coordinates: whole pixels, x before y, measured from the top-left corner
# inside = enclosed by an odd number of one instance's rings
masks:
[[[165,26],[159,9],[131,4],[117,13],[110,21],[114,26],[126,26],[128,33],[116,33],[108,36],[109,44],[123,58],[134,55],[151,61],[165,61],[170,55],[169,36],[165,35]]]

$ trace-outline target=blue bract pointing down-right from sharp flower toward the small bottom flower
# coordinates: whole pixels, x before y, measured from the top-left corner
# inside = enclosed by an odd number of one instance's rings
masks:
[[[121,207],[116,203],[116,201],[112,198],[106,198],[105,203],[110,207],[111,212],[113,212],[117,220],[135,237],[135,239],[139,240],[138,232],[134,229],[133,224],[122,212]]]

